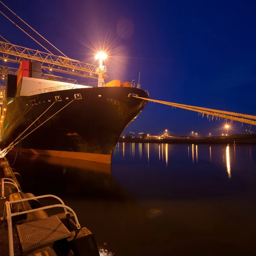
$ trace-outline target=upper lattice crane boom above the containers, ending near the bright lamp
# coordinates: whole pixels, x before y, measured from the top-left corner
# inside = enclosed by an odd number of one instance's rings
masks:
[[[23,59],[39,61],[42,64],[45,64],[42,68],[48,70],[98,79],[95,65],[53,55],[47,52],[17,46],[3,41],[0,41],[0,59],[11,62],[20,62]],[[107,78],[107,75],[105,78]]]

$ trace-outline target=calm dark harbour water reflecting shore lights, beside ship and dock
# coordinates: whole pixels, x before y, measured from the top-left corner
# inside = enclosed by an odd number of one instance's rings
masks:
[[[256,255],[255,145],[119,143],[111,167],[26,154],[13,167],[23,192],[73,208],[102,255]]]

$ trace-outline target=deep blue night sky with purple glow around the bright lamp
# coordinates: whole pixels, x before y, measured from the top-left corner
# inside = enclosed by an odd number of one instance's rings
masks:
[[[119,37],[115,47],[125,48],[113,60],[120,74],[109,67],[110,79],[137,81],[140,72],[142,89],[152,99],[256,114],[256,1],[3,2],[70,58],[88,60],[91,50],[84,44],[93,47],[98,35]],[[3,15],[0,35],[44,50]],[[247,127],[233,126],[234,133]],[[220,128],[195,112],[148,103],[125,132],[219,135]]]

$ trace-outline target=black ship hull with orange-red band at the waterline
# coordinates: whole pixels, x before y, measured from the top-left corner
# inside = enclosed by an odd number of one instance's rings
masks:
[[[91,87],[16,97],[4,112],[0,145],[7,147],[52,105],[20,139],[54,116],[21,140],[16,150],[110,164],[120,134],[147,103],[128,97],[130,93],[148,98],[145,91],[132,87]],[[75,94],[82,99],[73,100]],[[61,101],[55,102],[55,96]],[[29,108],[31,104],[35,105]]]

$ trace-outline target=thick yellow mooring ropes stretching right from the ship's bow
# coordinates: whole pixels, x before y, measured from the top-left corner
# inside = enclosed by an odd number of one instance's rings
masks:
[[[195,112],[201,113],[203,116],[206,114],[207,117],[212,116],[212,119],[213,119],[213,117],[219,117],[219,118],[229,119],[232,121],[247,123],[250,125],[256,125],[256,121],[250,120],[250,119],[256,119],[256,116],[253,116],[253,115],[234,113],[234,112],[229,112],[229,111],[221,111],[221,110],[215,110],[215,109],[211,109],[211,108],[201,108],[201,107],[178,104],[178,103],[173,103],[173,102],[165,102],[165,101],[161,101],[161,100],[157,100],[157,99],[147,99],[147,98],[143,98],[143,97],[139,97],[139,96],[132,96],[132,97],[138,98],[138,99],[144,99],[144,100],[147,100],[150,102],[157,102],[157,103],[161,103],[164,105],[169,105],[169,106],[172,106],[175,108],[183,108],[183,109],[187,109],[190,111],[195,111]],[[236,116],[239,116],[239,117],[236,117]],[[242,117],[242,118],[240,118],[240,117]],[[250,118],[250,119],[245,119],[245,118]]]

